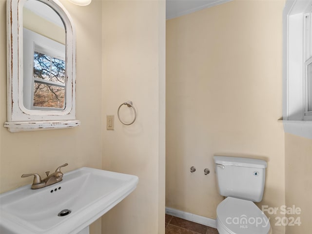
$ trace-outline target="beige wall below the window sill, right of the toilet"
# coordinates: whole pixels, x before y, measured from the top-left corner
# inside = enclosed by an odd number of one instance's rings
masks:
[[[312,230],[312,139],[285,134],[285,189],[287,207],[298,207],[300,214],[289,214],[301,221],[287,226],[286,234],[306,234]]]

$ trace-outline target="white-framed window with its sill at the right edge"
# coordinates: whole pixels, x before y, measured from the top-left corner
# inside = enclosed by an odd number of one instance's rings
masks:
[[[312,0],[287,0],[283,14],[283,124],[312,138]]]

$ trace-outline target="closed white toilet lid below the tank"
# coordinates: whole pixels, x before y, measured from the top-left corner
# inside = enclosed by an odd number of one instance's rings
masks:
[[[216,215],[220,234],[270,233],[269,219],[252,201],[227,197],[218,205]]]

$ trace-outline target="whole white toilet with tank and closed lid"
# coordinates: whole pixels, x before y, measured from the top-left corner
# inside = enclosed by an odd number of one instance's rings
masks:
[[[214,156],[219,194],[227,196],[216,209],[219,234],[271,234],[269,219],[254,204],[262,200],[267,162]]]

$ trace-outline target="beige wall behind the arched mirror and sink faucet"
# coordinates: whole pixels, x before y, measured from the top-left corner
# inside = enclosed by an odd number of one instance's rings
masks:
[[[30,184],[23,173],[53,171],[68,162],[63,172],[87,166],[102,167],[101,131],[101,2],[79,7],[62,0],[77,33],[77,119],[81,126],[64,130],[10,133],[6,121],[6,1],[0,0],[0,191]],[[83,16],[83,18],[81,18]],[[94,23],[97,22],[97,23]],[[99,234],[100,220],[91,227]]]

